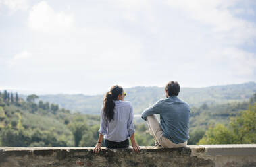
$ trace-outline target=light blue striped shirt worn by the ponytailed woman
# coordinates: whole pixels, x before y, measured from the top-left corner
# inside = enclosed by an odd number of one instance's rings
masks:
[[[101,127],[99,133],[104,139],[120,142],[128,139],[134,132],[133,108],[130,102],[115,101],[113,120],[107,121],[101,108]]]

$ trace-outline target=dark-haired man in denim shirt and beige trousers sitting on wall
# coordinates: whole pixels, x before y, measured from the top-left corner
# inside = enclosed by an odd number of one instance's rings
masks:
[[[142,113],[141,117],[147,121],[149,131],[155,138],[155,146],[173,148],[187,144],[190,108],[177,97],[179,92],[178,82],[168,82],[165,86],[166,98]],[[160,123],[155,114],[160,114]]]

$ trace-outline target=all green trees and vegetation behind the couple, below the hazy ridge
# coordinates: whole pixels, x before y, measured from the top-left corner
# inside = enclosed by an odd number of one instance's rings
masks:
[[[0,92],[0,146],[95,145],[99,116],[72,114],[70,110],[37,100],[38,98],[39,96],[32,94],[25,101],[17,93]],[[255,102],[256,94],[247,102],[215,105],[205,103],[192,107],[188,145],[255,143]],[[232,121],[230,118],[233,118]],[[146,122],[136,118],[134,125],[138,144],[153,145],[154,140],[149,135]],[[234,134],[237,136],[234,137]]]

